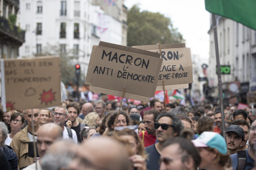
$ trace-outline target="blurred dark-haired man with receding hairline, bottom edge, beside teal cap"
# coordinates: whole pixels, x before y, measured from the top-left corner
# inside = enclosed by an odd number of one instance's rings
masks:
[[[187,139],[175,137],[163,144],[160,170],[197,170],[200,162],[198,150]]]

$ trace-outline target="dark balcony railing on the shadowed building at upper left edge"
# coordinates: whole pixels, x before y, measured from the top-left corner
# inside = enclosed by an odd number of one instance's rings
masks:
[[[0,17],[0,29],[7,34],[18,37],[20,42],[25,42],[25,31],[21,30],[18,26],[10,25],[8,20]]]

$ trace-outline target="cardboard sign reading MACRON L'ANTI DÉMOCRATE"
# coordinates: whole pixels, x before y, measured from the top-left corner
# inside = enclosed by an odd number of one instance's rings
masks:
[[[149,101],[154,96],[161,68],[160,54],[112,43],[94,45],[85,83],[90,90]]]

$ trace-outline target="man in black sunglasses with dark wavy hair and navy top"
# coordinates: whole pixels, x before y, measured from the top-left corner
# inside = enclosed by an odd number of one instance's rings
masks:
[[[154,123],[156,129],[156,139],[158,143],[146,147],[145,150],[149,154],[147,159],[147,170],[158,170],[163,143],[168,139],[179,136],[184,128],[181,120],[172,113],[162,112],[156,118]]]

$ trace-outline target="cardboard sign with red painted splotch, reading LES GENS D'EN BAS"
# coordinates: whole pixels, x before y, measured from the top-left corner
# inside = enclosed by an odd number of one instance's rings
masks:
[[[60,105],[59,57],[1,60],[1,73],[6,111]]]

